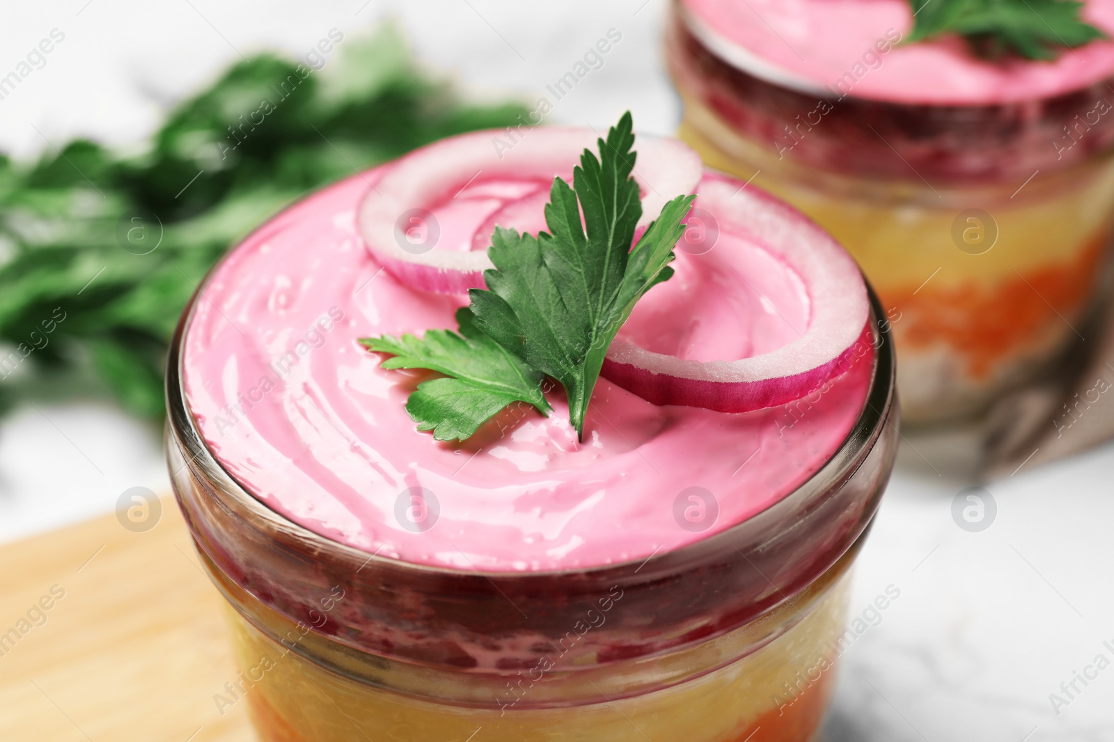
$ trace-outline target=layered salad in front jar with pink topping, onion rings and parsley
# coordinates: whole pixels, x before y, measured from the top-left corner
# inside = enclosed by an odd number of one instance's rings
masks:
[[[808,739],[843,631],[853,554],[836,536],[790,536],[770,550],[791,550],[781,564],[755,556],[746,568],[773,582],[755,575],[742,607],[703,616],[693,606],[724,600],[711,573],[656,607],[616,585],[557,634],[530,605],[565,597],[530,585],[653,575],[773,517],[852,445],[886,319],[822,229],[677,140],[636,141],[629,115],[606,137],[537,128],[492,147],[506,135],[446,139],[312,195],[233,250],[186,318],[190,425],[272,520],[365,555],[352,572],[412,573],[457,595],[446,604],[490,583],[508,603],[423,623],[424,588],[384,583],[384,619],[340,586],[355,575],[334,577],[324,546],[276,547],[336,580],[319,624],[294,605],[300,578],[261,576],[194,517],[258,675],[260,731]],[[867,499],[833,511],[832,533],[857,537]],[[791,561],[807,565],[795,582]]]

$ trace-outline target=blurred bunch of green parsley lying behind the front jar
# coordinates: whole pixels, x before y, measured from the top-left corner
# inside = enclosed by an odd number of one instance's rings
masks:
[[[138,154],[77,140],[30,165],[0,155],[0,405],[107,388],[160,417],[167,342],[228,247],[322,185],[525,113],[461,103],[387,26],[339,41],[322,69],[232,67]]]

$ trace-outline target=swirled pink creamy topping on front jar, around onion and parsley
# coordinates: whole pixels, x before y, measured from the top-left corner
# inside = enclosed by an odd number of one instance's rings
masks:
[[[743,414],[656,406],[600,378],[583,443],[559,386],[550,417],[508,408],[467,442],[434,442],[403,407],[427,376],[380,368],[356,339],[456,328],[467,297],[409,288],[365,249],[355,211],[382,171],[336,184],[250,236],[203,287],[186,334],[184,386],[202,436],[248,492],[306,528],[461,570],[646,558],[784,497],[860,414],[869,363],[804,407]],[[469,185],[433,209],[439,247],[471,249],[475,229],[530,187]],[[723,234],[702,255],[678,250],[674,267],[623,330],[652,349],[735,359],[789,343],[810,321],[805,286],[760,245]],[[411,487],[432,495],[423,531],[404,520]],[[681,525],[691,487],[714,497],[714,522]]]

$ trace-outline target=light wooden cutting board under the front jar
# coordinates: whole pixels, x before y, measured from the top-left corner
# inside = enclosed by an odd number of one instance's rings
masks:
[[[0,547],[0,740],[255,742],[222,602],[170,498]]]

